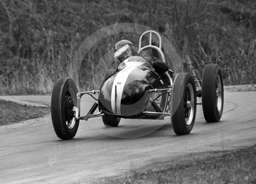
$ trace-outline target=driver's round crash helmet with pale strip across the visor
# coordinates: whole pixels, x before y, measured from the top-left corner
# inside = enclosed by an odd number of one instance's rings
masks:
[[[115,45],[114,56],[122,63],[126,58],[131,56],[139,56],[137,50],[133,46],[132,42],[128,40],[121,40]]]

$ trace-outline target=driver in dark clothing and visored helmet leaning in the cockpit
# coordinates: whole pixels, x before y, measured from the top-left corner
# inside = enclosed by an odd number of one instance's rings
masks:
[[[132,42],[128,40],[121,40],[115,45],[114,56],[122,63],[125,59],[131,56],[140,56],[133,46]],[[150,63],[156,72],[160,75],[167,85],[170,85],[169,77],[165,72],[168,71],[169,67],[166,63],[160,61],[157,57],[143,57]]]

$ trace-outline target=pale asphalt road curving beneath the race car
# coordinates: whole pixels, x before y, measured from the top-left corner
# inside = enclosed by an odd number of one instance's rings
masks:
[[[51,96],[0,96],[6,98],[49,105]],[[94,103],[83,98],[82,115]],[[170,117],[122,119],[116,128],[105,127],[101,117],[80,121],[75,138],[68,141],[55,135],[51,115],[0,126],[0,183],[86,183],[159,161],[188,159],[191,153],[254,145],[256,92],[225,92],[224,99],[220,122],[206,123],[198,105],[195,126],[184,136],[174,134]]]

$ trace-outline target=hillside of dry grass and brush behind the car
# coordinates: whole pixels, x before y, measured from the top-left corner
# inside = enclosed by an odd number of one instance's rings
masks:
[[[115,23],[157,30],[177,50],[186,72],[222,68],[225,85],[256,83],[255,0],[0,0],[0,94],[51,93],[68,76],[78,47]],[[93,88],[100,58],[116,42],[139,47],[138,34],[113,34],[95,44],[79,72],[80,90]]]

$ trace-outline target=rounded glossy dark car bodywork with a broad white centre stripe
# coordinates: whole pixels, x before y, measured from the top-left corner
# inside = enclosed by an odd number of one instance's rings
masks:
[[[99,109],[122,118],[140,117],[147,109],[156,112],[150,99],[155,99],[159,94],[149,91],[156,88],[164,89],[168,86],[153,66],[143,57],[129,57],[100,86]],[[166,103],[160,101],[166,99],[167,94],[158,99],[157,111],[164,111]]]

